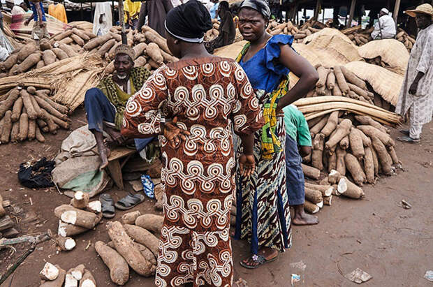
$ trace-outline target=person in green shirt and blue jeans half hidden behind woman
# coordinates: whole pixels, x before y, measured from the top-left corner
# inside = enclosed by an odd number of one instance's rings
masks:
[[[302,157],[311,154],[311,135],[307,120],[295,105],[283,109],[286,126],[286,176],[288,203],[294,209],[293,224],[299,226],[318,223],[318,217],[304,212],[305,179]],[[299,148],[298,148],[299,147]]]

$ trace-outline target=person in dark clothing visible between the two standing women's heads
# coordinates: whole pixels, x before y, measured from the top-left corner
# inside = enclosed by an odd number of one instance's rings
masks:
[[[221,1],[217,10],[221,22],[219,24],[219,34],[214,40],[205,43],[207,52],[211,54],[218,47],[223,47],[233,43],[236,37],[235,22],[233,22],[233,15],[230,13],[227,1]]]

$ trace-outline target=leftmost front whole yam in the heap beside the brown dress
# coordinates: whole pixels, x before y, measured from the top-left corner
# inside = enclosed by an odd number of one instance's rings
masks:
[[[110,270],[110,278],[117,285],[124,285],[129,279],[129,266],[126,260],[102,241],[95,243],[96,252]]]

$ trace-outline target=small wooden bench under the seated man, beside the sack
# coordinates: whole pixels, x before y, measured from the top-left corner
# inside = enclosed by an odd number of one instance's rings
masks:
[[[112,180],[119,189],[124,189],[122,168],[135,152],[135,149],[129,149],[128,147],[116,147],[111,150],[111,154],[108,157],[108,170],[110,171]]]

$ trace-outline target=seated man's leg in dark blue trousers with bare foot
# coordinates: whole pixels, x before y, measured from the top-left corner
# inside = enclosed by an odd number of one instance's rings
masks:
[[[95,135],[99,156],[101,156],[102,163],[99,170],[103,170],[108,165],[108,156],[110,156],[110,149],[103,141],[103,122],[114,122],[116,111],[108,98],[97,88],[87,90],[85,109],[89,131]]]

